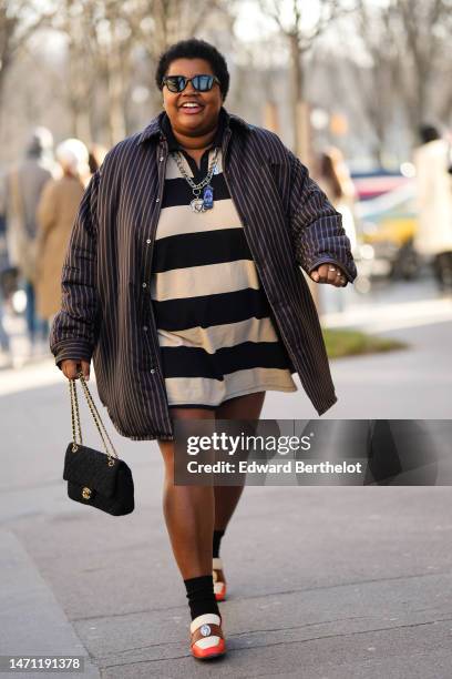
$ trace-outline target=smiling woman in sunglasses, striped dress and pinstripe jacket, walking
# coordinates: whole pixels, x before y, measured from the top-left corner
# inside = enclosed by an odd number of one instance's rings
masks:
[[[204,659],[226,650],[219,545],[243,487],[174,485],[173,423],[258,419],[267,389],[296,389],[295,372],[328,409],[337,397],[299,265],[338,287],[356,268],[306,168],[223,108],[229,74],[213,45],[171,47],[156,83],[164,111],[109,152],[84,195],[51,346],[68,378],[79,365],[88,377],[93,356],[116,429],[158,440],[191,652]]]

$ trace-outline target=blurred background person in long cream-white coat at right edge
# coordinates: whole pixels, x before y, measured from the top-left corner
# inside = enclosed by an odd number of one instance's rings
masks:
[[[452,291],[451,145],[433,125],[420,128],[422,144],[414,151],[419,211],[414,247],[433,266],[441,291]]]

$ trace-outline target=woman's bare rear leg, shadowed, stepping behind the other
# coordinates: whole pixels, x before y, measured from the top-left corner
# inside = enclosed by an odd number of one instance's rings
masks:
[[[265,392],[237,396],[215,409],[216,419],[259,419]],[[215,530],[225,530],[244,486],[215,486]]]

